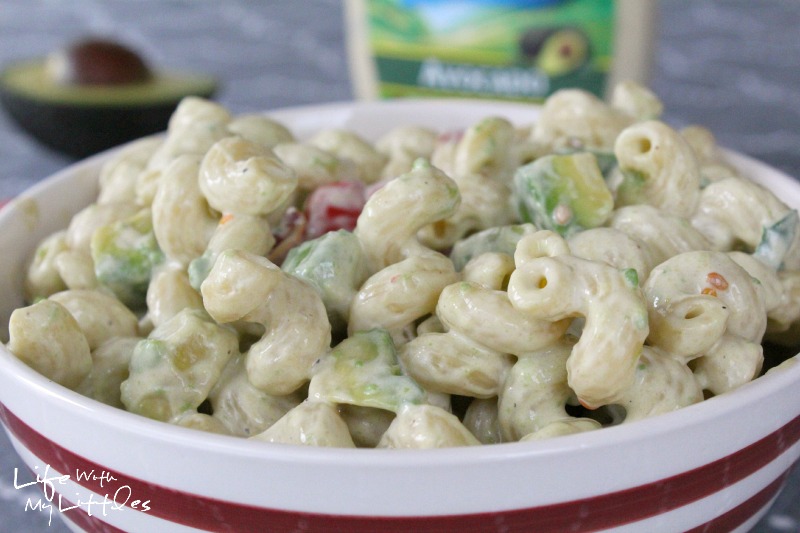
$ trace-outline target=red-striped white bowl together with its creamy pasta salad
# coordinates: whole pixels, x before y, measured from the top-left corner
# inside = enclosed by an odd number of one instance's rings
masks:
[[[89,531],[746,531],[800,457],[800,184],[606,102],[332,103],[0,211],[0,419]]]

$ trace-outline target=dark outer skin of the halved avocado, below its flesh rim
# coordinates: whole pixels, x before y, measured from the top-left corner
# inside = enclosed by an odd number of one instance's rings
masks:
[[[25,94],[0,83],[0,104],[26,133],[73,158],[84,158],[167,129],[184,96],[210,98],[216,84],[199,84],[186,94],[126,103],[59,102]]]

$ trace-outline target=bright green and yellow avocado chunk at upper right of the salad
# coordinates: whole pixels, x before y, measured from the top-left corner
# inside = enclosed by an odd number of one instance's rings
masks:
[[[568,237],[601,226],[614,208],[594,154],[552,154],[520,167],[514,176],[519,215],[539,229]]]

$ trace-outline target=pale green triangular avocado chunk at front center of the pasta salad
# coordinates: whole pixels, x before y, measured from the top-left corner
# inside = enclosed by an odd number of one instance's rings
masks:
[[[397,412],[420,404],[425,391],[405,375],[391,335],[383,329],[348,337],[317,364],[308,397]]]

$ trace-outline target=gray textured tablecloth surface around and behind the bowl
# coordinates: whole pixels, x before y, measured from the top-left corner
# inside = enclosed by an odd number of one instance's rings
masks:
[[[677,126],[800,177],[800,1],[661,0],[651,85]],[[154,64],[216,74],[234,112],[352,98],[339,0],[0,1],[0,64],[114,33]],[[0,198],[69,164],[0,114]],[[776,406],[779,408],[779,406]],[[687,452],[690,453],[690,452]],[[22,463],[0,435],[0,532],[65,531],[25,511]],[[759,532],[800,531],[800,467]]]

